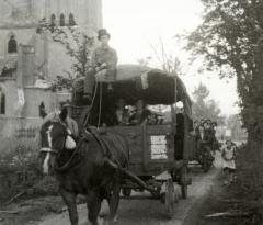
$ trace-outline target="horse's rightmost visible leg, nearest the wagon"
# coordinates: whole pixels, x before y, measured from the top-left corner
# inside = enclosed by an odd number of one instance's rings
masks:
[[[110,206],[110,222],[115,223],[117,222],[117,209],[119,203],[119,192],[121,187],[118,182],[118,175],[114,177],[112,193],[108,195],[107,199],[108,206]]]

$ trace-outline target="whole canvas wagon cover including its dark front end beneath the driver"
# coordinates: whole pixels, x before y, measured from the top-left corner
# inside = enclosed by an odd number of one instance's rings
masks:
[[[94,87],[90,124],[98,123],[99,119],[101,123],[111,124],[118,99],[124,99],[129,105],[134,105],[139,99],[150,105],[169,105],[183,101],[186,114],[190,116],[192,114],[191,100],[184,83],[179,77],[168,75],[162,70],[138,65],[121,65],[117,68],[116,81],[111,85],[111,90],[106,82],[99,82]]]

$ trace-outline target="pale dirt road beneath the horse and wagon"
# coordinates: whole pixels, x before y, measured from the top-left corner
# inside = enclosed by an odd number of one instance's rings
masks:
[[[213,169],[208,173],[204,175],[202,170],[194,172],[193,183],[188,187],[187,200],[180,199],[176,204],[175,214],[173,220],[165,218],[163,205],[158,200],[149,199],[148,193],[134,193],[132,200],[123,199],[118,210],[118,224],[122,225],[182,225],[186,217],[194,210],[194,205],[197,201],[209,191],[213,185],[214,178],[218,175],[218,169]],[[179,187],[175,187],[180,192]],[[140,196],[140,198],[139,198]],[[87,222],[87,207],[85,204],[79,205],[80,225],[88,225]],[[102,214],[107,214],[108,209],[105,202],[103,202]],[[45,222],[38,225],[70,225],[67,212],[60,215],[50,215],[44,218]],[[106,224],[103,218],[100,220],[100,224]]]

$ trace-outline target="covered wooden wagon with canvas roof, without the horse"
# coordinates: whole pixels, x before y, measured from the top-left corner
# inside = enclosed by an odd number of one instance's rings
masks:
[[[81,91],[75,93],[72,106],[72,117],[80,126],[89,124],[99,133],[118,134],[127,142],[129,176],[122,178],[123,195],[128,198],[132,190],[148,190],[172,216],[176,201],[173,182],[181,185],[183,199],[191,182],[187,175],[188,148],[193,147],[188,135],[193,128],[191,100],[181,79],[158,69],[124,65],[118,67],[115,82],[96,83],[91,105],[83,106],[81,97]],[[126,108],[142,100],[153,120],[116,122],[116,102],[121,99]],[[179,101],[183,103],[181,112],[176,109]]]

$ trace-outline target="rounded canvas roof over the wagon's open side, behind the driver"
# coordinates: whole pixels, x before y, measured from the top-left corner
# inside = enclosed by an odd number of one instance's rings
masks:
[[[175,102],[175,90],[178,101],[187,95],[183,82],[176,76],[138,65],[119,65],[110,95],[113,99],[125,99],[130,104],[138,99],[147,104],[172,104]]]

